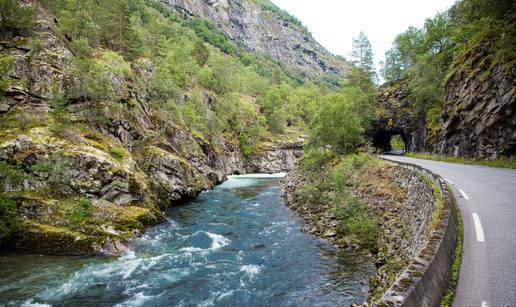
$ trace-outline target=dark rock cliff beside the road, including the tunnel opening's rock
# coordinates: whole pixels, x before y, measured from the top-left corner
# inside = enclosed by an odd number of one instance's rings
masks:
[[[378,121],[370,131],[373,145],[389,148],[392,132],[405,134],[409,151],[496,159],[516,156],[516,66],[507,50],[516,33],[504,21],[486,30],[483,38],[454,55],[435,122],[410,98],[408,79],[379,87]],[[505,50],[505,51],[504,51]],[[392,118],[394,130],[385,129]]]

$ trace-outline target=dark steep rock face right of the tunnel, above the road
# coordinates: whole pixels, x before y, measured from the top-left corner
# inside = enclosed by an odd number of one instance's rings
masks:
[[[446,85],[438,153],[516,156],[516,66],[514,59],[497,63],[495,58],[497,42],[511,33],[514,40],[514,29],[499,31],[457,60],[458,67]]]

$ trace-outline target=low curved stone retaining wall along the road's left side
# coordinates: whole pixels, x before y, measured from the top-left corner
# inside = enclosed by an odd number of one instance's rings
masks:
[[[396,162],[398,163],[398,162]],[[375,306],[439,306],[452,271],[457,243],[457,214],[452,194],[438,175],[419,166],[398,163],[433,180],[442,192],[443,210],[430,239]]]

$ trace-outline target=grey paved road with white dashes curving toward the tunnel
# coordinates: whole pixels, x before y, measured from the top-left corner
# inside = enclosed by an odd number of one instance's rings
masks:
[[[464,220],[454,306],[516,307],[516,170],[382,156],[449,181]]]

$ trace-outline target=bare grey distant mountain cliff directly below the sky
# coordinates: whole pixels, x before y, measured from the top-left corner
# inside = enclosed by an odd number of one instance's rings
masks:
[[[282,18],[268,1],[162,0],[185,17],[211,21],[239,46],[264,53],[308,77],[323,73],[345,76],[348,65],[330,54],[306,30]],[[260,4],[262,3],[262,4]]]

